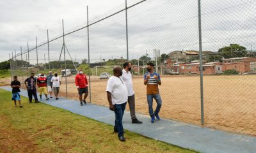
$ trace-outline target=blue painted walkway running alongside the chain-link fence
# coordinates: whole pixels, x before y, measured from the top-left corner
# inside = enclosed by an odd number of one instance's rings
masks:
[[[1,89],[5,89],[6,91],[12,90],[10,87],[1,87]],[[28,93],[23,89],[21,89],[20,94],[28,97]],[[79,106],[78,101],[65,98],[60,98],[58,101],[51,99],[47,102],[42,100],[42,102],[99,120],[100,122],[114,124],[114,113],[104,106],[93,105],[91,103],[85,106]],[[108,103],[107,100],[106,103]],[[256,152],[256,137],[253,136],[237,135],[165,119],[152,124],[148,115],[137,114],[137,117],[143,121],[143,124],[131,124],[130,113],[125,112],[124,128],[140,135],[200,152]]]

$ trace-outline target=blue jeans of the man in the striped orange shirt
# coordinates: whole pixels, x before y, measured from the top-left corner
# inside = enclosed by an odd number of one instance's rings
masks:
[[[153,111],[153,98],[156,100],[157,106],[155,112]],[[155,117],[155,114],[160,112],[160,108],[162,106],[162,99],[160,94],[147,94],[148,100],[148,112],[150,117]]]

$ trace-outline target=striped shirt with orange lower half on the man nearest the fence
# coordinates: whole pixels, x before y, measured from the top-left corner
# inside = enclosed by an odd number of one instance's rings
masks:
[[[153,73],[148,72],[148,73],[145,73],[144,80],[147,79],[148,74],[150,75],[150,78],[148,79],[148,82],[147,82],[147,94],[159,94],[158,83],[157,83],[157,80],[154,79],[154,75],[156,75],[157,79],[161,81],[160,75],[156,72],[153,72]]]

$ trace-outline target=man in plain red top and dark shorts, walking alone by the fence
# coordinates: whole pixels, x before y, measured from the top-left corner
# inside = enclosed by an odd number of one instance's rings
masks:
[[[86,75],[84,75],[83,73],[83,69],[79,69],[78,74],[76,75],[76,87],[79,94],[80,105],[83,106],[83,102],[84,102],[84,105],[86,105],[85,99],[88,96],[88,82],[87,82]],[[83,93],[84,93],[84,98],[82,100]]]

